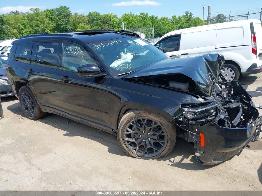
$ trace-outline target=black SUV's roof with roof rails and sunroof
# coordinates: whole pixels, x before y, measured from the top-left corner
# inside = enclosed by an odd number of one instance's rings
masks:
[[[55,33],[55,34],[38,34],[20,37],[15,40],[13,44],[31,42],[31,41],[84,41],[85,43],[93,43],[97,41],[106,41],[112,39],[118,39],[127,36],[139,37],[137,33],[126,30],[89,30],[67,33]]]

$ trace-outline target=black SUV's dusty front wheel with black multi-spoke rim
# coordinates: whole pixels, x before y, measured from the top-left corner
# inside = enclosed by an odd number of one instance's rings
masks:
[[[176,141],[175,124],[147,112],[128,111],[119,123],[118,143],[132,157],[167,156]]]

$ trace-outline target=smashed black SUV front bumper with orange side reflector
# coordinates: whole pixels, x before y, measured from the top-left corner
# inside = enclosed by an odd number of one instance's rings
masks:
[[[184,132],[180,136],[193,144],[204,165],[221,163],[236,155],[249,142],[256,141],[261,132],[261,116],[238,81],[214,94],[218,106],[213,115],[193,120],[183,114],[174,120]]]

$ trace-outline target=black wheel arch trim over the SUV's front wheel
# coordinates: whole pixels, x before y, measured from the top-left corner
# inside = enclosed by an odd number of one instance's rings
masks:
[[[141,103],[123,102],[118,111],[118,115],[113,122],[114,130],[118,130],[118,125],[119,125],[120,120],[122,119],[123,115],[127,113],[127,111],[129,110],[139,110],[139,111],[148,112],[154,115],[158,115],[166,120],[170,120],[173,118],[172,115],[170,115],[167,111],[164,111],[156,107],[152,107],[152,106],[141,104]]]

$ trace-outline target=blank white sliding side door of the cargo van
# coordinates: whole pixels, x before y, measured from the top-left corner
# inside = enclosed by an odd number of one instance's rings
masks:
[[[215,53],[216,26],[186,29],[180,39],[179,55]]]

